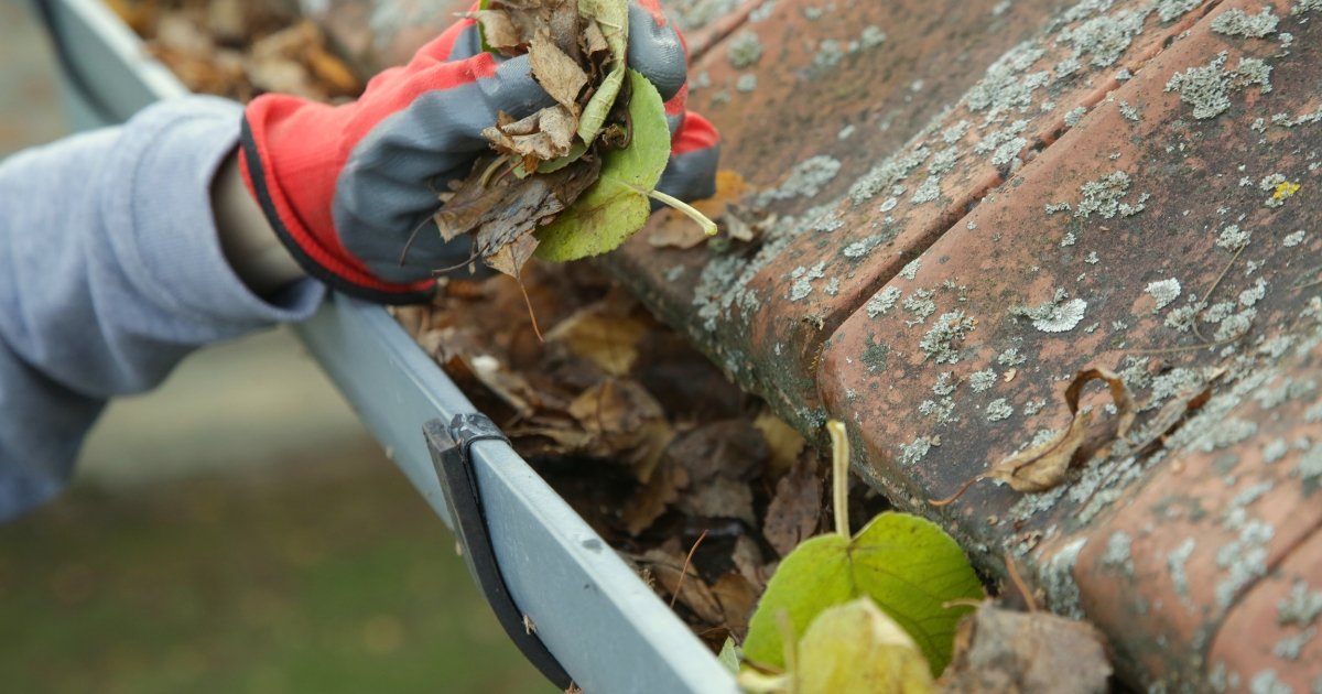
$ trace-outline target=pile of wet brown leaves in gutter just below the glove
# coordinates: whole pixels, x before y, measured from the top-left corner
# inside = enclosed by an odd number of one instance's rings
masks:
[[[780,558],[828,518],[829,457],[590,263],[530,264],[524,283],[545,344],[506,278],[394,311],[705,642],[742,642]],[[886,508],[853,493],[858,523]]]

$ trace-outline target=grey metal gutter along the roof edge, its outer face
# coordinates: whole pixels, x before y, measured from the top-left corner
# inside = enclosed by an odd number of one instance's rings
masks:
[[[54,3],[54,30],[87,98],[70,94],[74,123],[106,124],[188,90],[98,0]],[[378,305],[334,296],[293,327],[308,350],[447,525],[423,424],[476,411],[439,366]],[[588,693],[735,693],[734,677],[615,551],[504,442],[471,448],[497,562],[510,596]],[[438,547],[438,551],[451,551]]]

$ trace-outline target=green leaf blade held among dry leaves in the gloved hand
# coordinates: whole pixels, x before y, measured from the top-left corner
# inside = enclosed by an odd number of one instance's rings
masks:
[[[648,194],[670,160],[670,130],[657,89],[635,70],[628,77],[632,141],[607,153],[598,181],[537,230],[537,256],[543,260],[576,260],[615,250],[648,221]]]

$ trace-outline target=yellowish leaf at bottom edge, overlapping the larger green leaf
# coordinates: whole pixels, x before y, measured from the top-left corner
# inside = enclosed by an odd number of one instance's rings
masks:
[[[866,596],[817,615],[796,665],[796,694],[936,694],[917,645]]]

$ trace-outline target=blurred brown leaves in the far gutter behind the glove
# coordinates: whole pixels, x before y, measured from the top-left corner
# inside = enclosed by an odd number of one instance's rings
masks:
[[[246,102],[279,91],[323,102],[364,81],[293,0],[106,0],[190,91]]]

